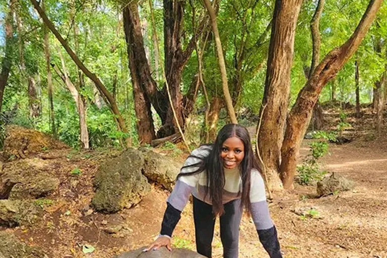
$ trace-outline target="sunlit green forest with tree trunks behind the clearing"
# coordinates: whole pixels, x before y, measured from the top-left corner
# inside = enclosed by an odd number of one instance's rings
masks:
[[[10,0],[0,8],[2,130],[18,124],[80,149],[182,137],[189,150],[226,122],[261,120],[257,147],[275,189],[292,187],[312,114],[311,128],[322,128],[319,103],[355,103],[359,116],[360,104],[372,103],[383,127],[381,0]]]

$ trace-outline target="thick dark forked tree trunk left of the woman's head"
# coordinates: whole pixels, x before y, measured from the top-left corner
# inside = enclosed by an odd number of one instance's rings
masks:
[[[177,0],[164,0],[164,62],[165,76],[169,86],[173,107],[176,111],[177,120],[180,126],[184,126],[185,112],[183,109],[184,98],[180,91],[182,71],[193,49],[195,48],[195,39],[192,37],[185,50],[181,48],[182,22],[183,22],[183,3]],[[150,128],[153,120],[151,116],[146,118],[146,113],[141,111],[148,107],[147,102],[151,103],[161,118],[162,126],[157,132],[158,138],[164,138],[177,132],[175,119],[169,103],[167,88],[164,84],[161,90],[157,89],[156,82],[153,80],[148,60],[145,54],[144,40],[141,31],[141,21],[138,13],[137,2],[132,2],[123,9],[123,23],[125,39],[127,43],[128,59],[130,62],[132,79],[135,78],[138,87],[136,88],[135,103],[143,102],[139,109],[135,108],[138,117],[138,128]],[[205,22],[199,24],[199,32],[205,28]],[[140,105],[140,104],[139,104]],[[150,109],[150,104],[149,104]],[[147,111],[151,114],[150,111]],[[141,117],[141,118],[140,118]],[[154,136],[152,130],[140,132],[141,138],[147,139],[148,143]],[[146,142],[144,142],[146,143]]]

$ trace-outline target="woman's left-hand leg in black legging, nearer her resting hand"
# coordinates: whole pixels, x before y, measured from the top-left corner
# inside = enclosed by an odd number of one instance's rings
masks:
[[[212,206],[193,197],[193,221],[195,222],[196,250],[211,258],[211,243],[215,225]]]

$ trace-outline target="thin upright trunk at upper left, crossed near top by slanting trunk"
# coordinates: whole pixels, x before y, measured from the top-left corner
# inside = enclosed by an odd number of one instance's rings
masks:
[[[44,1],[42,0],[42,9],[45,12]],[[49,120],[51,127],[51,134],[56,136],[56,127],[55,127],[55,113],[54,113],[54,101],[52,96],[52,75],[51,75],[51,65],[50,65],[50,44],[47,27],[44,26],[44,56],[46,58],[46,70],[47,70],[47,92],[48,92],[48,104],[49,104]]]

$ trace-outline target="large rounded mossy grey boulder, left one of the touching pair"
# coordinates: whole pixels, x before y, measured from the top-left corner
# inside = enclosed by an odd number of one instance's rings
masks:
[[[94,209],[113,213],[138,204],[151,190],[143,168],[144,157],[135,149],[127,149],[102,164],[94,179]]]

